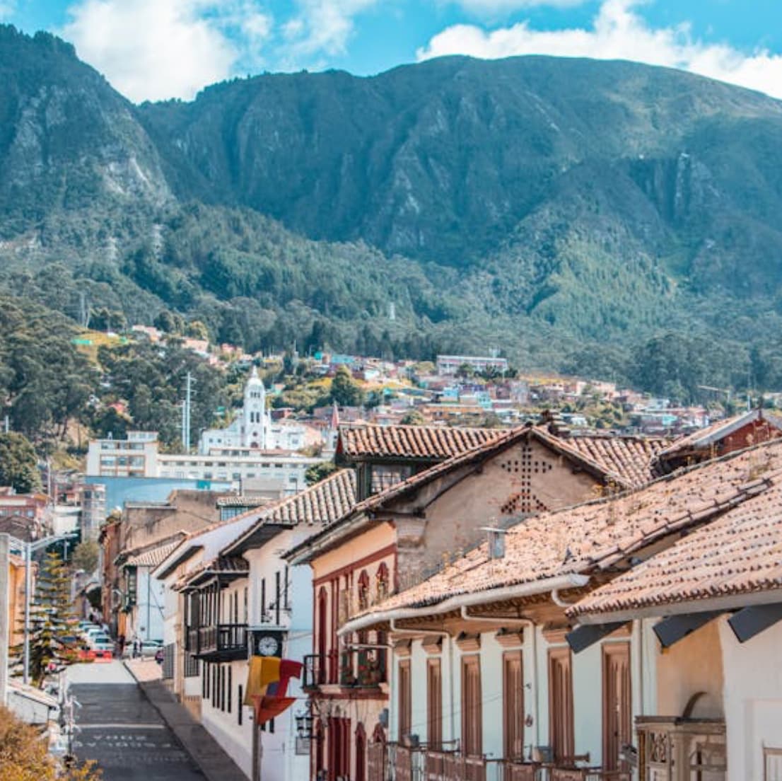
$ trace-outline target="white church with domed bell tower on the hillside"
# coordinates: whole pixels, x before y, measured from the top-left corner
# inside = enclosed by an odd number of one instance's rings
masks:
[[[245,387],[244,405],[230,426],[207,429],[199,440],[199,453],[244,448],[248,450],[299,450],[307,445],[307,430],[297,423],[272,423],[266,408],[264,381],[253,366]]]

